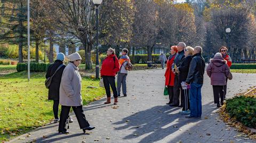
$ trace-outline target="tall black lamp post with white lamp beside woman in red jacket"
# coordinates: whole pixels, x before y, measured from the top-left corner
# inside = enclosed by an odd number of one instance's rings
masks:
[[[96,26],[97,26],[97,45],[96,45],[96,78],[99,79],[99,68],[100,68],[100,62],[99,62],[99,5],[102,3],[102,0],[93,0],[93,4],[96,6]]]

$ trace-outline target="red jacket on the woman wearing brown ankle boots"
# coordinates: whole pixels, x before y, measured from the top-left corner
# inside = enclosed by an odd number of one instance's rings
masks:
[[[114,58],[115,63],[114,63]],[[107,56],[101,65],[100,75],[102,76],[111,76],[115,77],[116,73],[120,70],[119,61],[116,55],[112,54]]]

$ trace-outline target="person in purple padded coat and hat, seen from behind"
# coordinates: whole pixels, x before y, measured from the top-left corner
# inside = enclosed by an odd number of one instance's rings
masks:
[[[216,53],[214,58],[210,60],[210,64],[207,66],[206,72],[211,78],[214,103],[217,104],[217,107],[220,107],[223,105],[225,85],[227,84],[226,78],[229,74],[227,61],[224,60],[221,53]]]

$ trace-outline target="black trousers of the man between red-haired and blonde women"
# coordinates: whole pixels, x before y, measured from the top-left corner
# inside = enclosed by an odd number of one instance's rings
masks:
[[[180,105],[180,81],[179,81],[179,75],[175,75],[174,79],[174,96],[173,96],[173,104],[174,105]],[[182,103],[183,97],[181,96],[181,106],[183,106]]]

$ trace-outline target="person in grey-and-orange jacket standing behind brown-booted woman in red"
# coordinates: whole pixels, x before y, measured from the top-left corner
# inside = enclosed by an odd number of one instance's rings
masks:
[[[127,77],[127,74],[128,74],[128,70],[125,69],[125,66],[126,66],[127,63],[130,62],[130,58],[127,54],[128,54],[128,49],[124,48],[122,50],[122,56],[119,59],[120,70],[117,73],[117,95],[121,96],[121,85],[122,85],[122,90],[123,90],[124,97],[127,96],[126,77]]]

